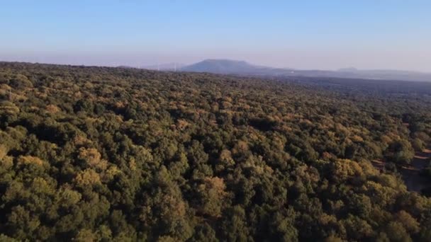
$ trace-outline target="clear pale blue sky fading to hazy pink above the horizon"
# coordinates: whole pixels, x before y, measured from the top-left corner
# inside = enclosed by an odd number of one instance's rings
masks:
[[[431,1],[0,0],[0,60],[431,72]]]

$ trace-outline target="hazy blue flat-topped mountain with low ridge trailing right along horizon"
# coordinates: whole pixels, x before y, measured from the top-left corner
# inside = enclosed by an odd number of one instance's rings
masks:
[[[215,74],[240,74],[251,76],[307,76],[337,77],[347,79],[385,79],[398,81],[431,81],[430,73],[397,70],[359,70],[354,67],[330,70],[296,70],[262,67],[231,59],[206,59],[182,67],[181,71],[209,72]]]

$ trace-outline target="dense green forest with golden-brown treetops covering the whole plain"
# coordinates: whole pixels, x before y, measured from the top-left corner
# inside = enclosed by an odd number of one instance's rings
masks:
[[[0,241],[431,241],[430,137],[431,83],[0,62]]]

